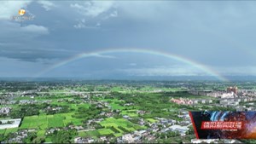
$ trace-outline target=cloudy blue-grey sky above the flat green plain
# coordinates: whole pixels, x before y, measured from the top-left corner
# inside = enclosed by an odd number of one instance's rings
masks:
[[[256,76],[253,1],[16,0],[0,9],[1,77]],[[33,19],[11,20],[20,9]]]

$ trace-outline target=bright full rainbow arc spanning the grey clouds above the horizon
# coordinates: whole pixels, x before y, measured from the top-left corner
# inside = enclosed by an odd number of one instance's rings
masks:
[[[74,60],[79,60],[79,59],[83,59],[83,58],[87,58],[87,57],[96,57],[96,56],[113,58],[113,57],[107,55],[107,54],[113,54],[113,53],[137,53],[137,54],[159,55],[162,57],[166,57],[168,59],[181,61],[185,64],[188,64],[189,66],[194,66],[194,67],[200,69],[201,71],[206,72],[209,76],[217,78],[218,80],[228,81],[228,79],[226,79],[223,76],[221,76],[220,74],[218,74],[218,72],[213,71],[210,67],[204,66],[204,65],[196,62],[195,60],[189,60],[180,55],[173,55],[170,53],[156,51],[156,50],[149,50],[149,49],[104,49],[104,50],[99,50],[99,51],[94,51],[94,52],[89,52],[89,53],[81,53],[79,55],[74,55],[66,60],[61,60],[60,62],[55,63],[55,65],[53,65],[53,66],[49,66],[48,68],[44,69],[44,71],[36,74],[34,78],[38,78],[41,75],[44,75],[45,73],[54,70],[55,68],[65,66]]]

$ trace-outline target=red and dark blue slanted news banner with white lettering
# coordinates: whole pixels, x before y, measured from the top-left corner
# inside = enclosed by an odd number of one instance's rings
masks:
[[[256,139],[256,112],[189,112],[198,139]]]

